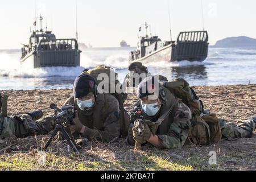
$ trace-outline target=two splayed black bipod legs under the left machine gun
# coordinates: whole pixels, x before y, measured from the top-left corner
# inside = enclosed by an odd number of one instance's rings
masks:
[[[57,123],[55,126],[55,129],[53,130],[51,136],[48,138],[46,144],[44,145],[43,150],[46,151],[47,147],[49,146],[49,144],[52,142],[52,139],[55,137],[55,135],[58,133],[58,131],[60,131],[60,133],[62,134],[62,136],[68,141],[69,145],[71,147],[73,147],[73,150],[75,152],[79,152],[79,150],[77,150],[76,144],[73,143],[71,137],[69,136],[69,134],[67,133],[67,131],[64,129],[64,126],[60,123]]]

